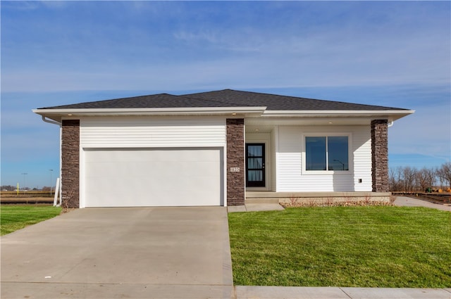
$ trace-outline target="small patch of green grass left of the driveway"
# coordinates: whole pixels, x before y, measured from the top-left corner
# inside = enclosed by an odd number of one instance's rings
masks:
[[[1,236],[28,225],[61,214],[61,208],[43,205],[2,205],[0,208]]]

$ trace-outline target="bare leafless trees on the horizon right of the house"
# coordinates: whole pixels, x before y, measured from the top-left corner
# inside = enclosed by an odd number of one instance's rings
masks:
[[[423,167],[417,169],[410,166],[391,168],[389,173],[390,191],[425,192],[451,189],[451,163],[440,167]]]

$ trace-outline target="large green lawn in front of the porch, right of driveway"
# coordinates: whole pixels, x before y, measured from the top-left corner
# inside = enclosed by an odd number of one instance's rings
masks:
[[[451,213],[333,207],[228,214],[242,286],[451,287]]]

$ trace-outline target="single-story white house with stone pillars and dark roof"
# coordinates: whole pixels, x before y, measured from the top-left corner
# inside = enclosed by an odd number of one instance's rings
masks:
[[[61,126],[63,203],[387,198],[388,127],[413,110],[225,89],[38,108]]]

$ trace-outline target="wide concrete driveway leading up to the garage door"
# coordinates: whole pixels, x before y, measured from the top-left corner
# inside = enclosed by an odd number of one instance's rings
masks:
[[[227,209],[87,208],[1,237],[1,298],[233,298]]]

